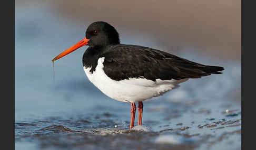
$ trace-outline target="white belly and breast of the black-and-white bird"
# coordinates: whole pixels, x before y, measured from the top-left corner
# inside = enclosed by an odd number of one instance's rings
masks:
[[[163,93],[177,87],[182,80],[161,80],[156,81],[147,79],[125,79],[115,81],[107,77],[103,68],[104,57],[100,58],[97,67],[93,73],[90,72],[91,68],[85,68],[84,71],[88,79],[104,94],[110,98],[122,102],[138,102],[146,99],[151,99],[162,95]]]

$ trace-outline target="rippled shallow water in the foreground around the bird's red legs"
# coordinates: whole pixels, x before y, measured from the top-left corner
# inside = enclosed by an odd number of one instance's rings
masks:
[[[161,100],[144,102],[143,126],[135,126],[131,131],[129,105],[125,103],[15,121],[15,148],[22,149],[23,145],[28,146],[26,149],[29,145],[31,149],[241,147],[239,104],[220,100],[157,101]]]

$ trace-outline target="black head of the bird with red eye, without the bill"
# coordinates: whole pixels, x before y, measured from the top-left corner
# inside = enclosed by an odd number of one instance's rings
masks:
[[[85,37],[90,39],[88,46],[104,47],[120,44],[119,34],[116,29],[106,22],[94,22],[88,26]]]

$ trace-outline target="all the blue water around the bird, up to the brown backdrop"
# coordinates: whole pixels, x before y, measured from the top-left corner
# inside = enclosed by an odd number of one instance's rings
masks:
[[[190,47],[173,51],[223,66],[224,73],[190,79],[144,101],[142,126],[130,131],[130,104],[106,97],[85,76],[86,47],[57,60],[53,80],[51,60],[84,38],[89,24],[67,22],[48,5],[15,7],[15,149],[241,149],[240,60]],[[147,37],[138,43],[167,49]]]

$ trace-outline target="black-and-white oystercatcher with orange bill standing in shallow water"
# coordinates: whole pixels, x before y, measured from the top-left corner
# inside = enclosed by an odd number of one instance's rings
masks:
[[[221,74],[224,68],[196,63],[161,50],[120,43],[117,30],[106,22],[94,22],[85,38],[60,53],[52,62],[82,47],[85,74],[111,99],[131,103],[130,130],[138,102],[138,125],[142,125],[143,102],[178,88],[189,79]]]

